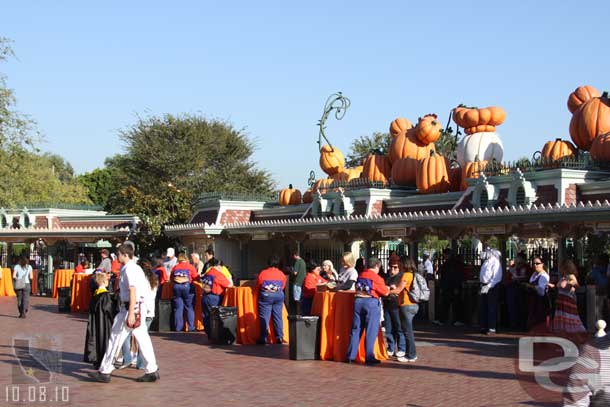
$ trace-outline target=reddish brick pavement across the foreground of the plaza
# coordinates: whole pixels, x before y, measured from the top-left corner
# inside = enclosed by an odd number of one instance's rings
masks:
[[[287,346],[213,347],[203,333],[153,333],[161,381],[136,383],[142,372],[124,369],[114,372],[110,384],[91,383],[91,366],[82,362],[85,315],[59,314],[56,300],[33,297],[28,318],[21,320],[15,301],[0,297],[0,405],[30,405],[10,402],[15,337],[30,338],[35,349],[62,352],[62,374],[46,386],[52,397],[55,386],[59,394],[67,386],[69,403],[31,403],[37,406],[553,405],[534,401],[516,380],[517,337],[427,325],[416,325],[416,363],[375,367],[291,361]],[[27,398],[27,386],[20,389]]]

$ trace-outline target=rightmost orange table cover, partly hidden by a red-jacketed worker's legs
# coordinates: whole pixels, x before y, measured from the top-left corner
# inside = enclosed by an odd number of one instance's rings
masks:
[[[312,315],[320,317],[320,359],[344,362],[352,331],[354,317],[354,292],[318,292],[311,309]],[[358,362],[364,362],[364,335],[360,338]],[[388,352],[381,327],[375,342],[375,357],[387,360]]]

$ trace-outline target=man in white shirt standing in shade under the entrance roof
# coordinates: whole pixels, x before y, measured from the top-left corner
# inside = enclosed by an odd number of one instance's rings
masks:
[[[479,282],[481,283],[481,301],[479,309],[479,325],[481,333],[493,335],[496,333],[496,316],[498,312],[498,292],[502,281],[502,265],[500,264],[500,252],[487,248],[481,253],[481,272]]]

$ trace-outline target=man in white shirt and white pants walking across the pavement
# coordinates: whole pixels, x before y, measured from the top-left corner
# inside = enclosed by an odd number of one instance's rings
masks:
[[[152,342],[143,320],[148,315],[145,297],[149,293],[150,287],[148,287],[144,271],[136,264],[133,258],[133,247],[122,244],[119,247],[119,261],[123,264],[119,280],[121,311],[114,318],[108,348],[104,354],[99,371],[89,373],[89,377],[98,382],[110,382],[110,374],[114,370],[114,358],[130,332],[138,342],[139,352],[142,355],[146,372],[137,381],[154,382],[160,378]],[[136,314],[138,313],[142,318],[140,325],[136,328],[130,328],[130,326],[135,324],[138,318]]]

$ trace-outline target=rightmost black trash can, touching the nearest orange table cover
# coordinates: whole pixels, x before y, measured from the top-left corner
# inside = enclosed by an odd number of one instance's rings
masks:
[[[313,360],[319,355],[318,317],[289,315],[290,359]]]

